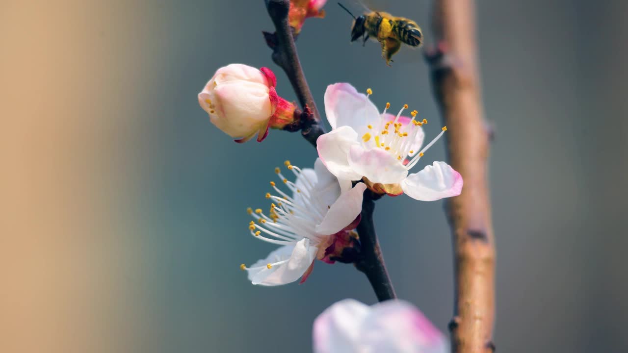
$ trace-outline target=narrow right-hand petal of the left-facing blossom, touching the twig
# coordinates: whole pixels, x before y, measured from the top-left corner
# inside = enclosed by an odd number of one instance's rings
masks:
[[[338,200],[330,207],[329,211],[323,218],[323,221],[317,225],[317,234],[328,236],[341,231],[344,227],[351,224],[360,212],[362,212],[362,196],[366,190],[364,183],[357,183],[354,188],[348,192],[342,193]]]

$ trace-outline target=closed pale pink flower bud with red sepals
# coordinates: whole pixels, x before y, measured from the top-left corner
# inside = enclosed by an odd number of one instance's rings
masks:
[[[296,106],[277,94],[274,73],[231,64],[219,68],[198,94],[198,103],[217,128],[246,142],[257,133],[257,141],[268,135],[268,128],[281,129],[298,117]]]

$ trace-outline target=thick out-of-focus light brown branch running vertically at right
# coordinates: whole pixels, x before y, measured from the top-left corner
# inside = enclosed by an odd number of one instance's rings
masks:
[[[447,203],[453,233],[455,307],[453,352],[492,352],[495,248],[487,187],[489,132],[481,105],[473,0],[435,0],[438,41],[426,53],[433,91],[448,126],[450,163],[464,178]]]

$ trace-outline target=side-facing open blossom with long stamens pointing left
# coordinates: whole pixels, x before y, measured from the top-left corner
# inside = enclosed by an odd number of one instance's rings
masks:
[[[290,161],[285,165],[289,173],[296,176],[296,182],[285,178],[279,168],[275,168],[275,172],[292,196],[271,182],[278,196],[266,193],[266,198],[274,202],[269,214],[261,209],[247,210],[257,220],[257,224],[254,221],[249,224],[252,236],[281,246],[251,267],[240,266],[248,271],[254,285],[284,285],[301,276],[303,283],[311,273],[315,258],[333,263],[345,247],[352,246],[352,238],[355,238],[352,229],[360,222],[364,183],[357,183],[353,188],[349,184],[341,192],[338,180],[320,159],[314,169],[301,170]]]

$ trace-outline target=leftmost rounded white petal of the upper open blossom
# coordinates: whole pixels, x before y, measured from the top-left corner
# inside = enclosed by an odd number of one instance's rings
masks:
[[[355,173],[348,159],[351,146],[359,144],[355,130],[342,126],[317,139],[318,156],[338,179],[360,180],[362,175]]]

